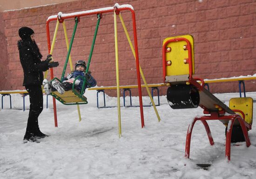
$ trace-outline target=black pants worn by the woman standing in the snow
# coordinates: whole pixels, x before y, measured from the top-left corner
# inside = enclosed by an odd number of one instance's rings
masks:
[[[28,85],[25,86],[27,92],[29,93],[29,115],[27,119],[27,133],[34,134],[39,130],[38,126],[38,116],[43,110],[43,93],[41,85]]]

